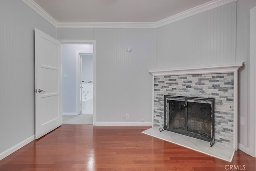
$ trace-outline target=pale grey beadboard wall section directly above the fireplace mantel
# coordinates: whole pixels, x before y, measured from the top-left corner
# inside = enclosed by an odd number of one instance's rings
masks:
[[[236,62],[236,2],[156,29],[156,68]]]

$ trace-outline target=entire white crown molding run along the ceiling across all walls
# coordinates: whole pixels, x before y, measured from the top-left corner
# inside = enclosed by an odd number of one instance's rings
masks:
[[[237,0],[212,0],[158,22],[57,22],[33,0],[22,0],[56,28],[159,28]]]

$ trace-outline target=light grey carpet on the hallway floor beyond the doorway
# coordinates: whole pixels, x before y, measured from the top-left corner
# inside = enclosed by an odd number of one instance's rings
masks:
[[[63,125],[92,125],[92,114],[63,115]]]

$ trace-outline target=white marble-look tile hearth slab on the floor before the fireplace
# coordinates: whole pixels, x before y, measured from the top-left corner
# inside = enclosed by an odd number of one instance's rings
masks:
[[[164,130],[159,132],[159,129],[156,127],[152,127],[143,131],[147,135],[151,135],[153,137],[163,139],[165,141],[181,145],[183,147],[204,153],[206,155],[210,155],[212,157],[216,157],[218,159],[222,159],[225,161],[232,161],[235,150],[230,147],[225,147],[223,145],[215,142],[212,147],[210,147],[210,142],[203,141],[201,139],[196,139],[193,137],[188,137],[186,135],[181,135],[178,133],[174,133],[171,131]]]

